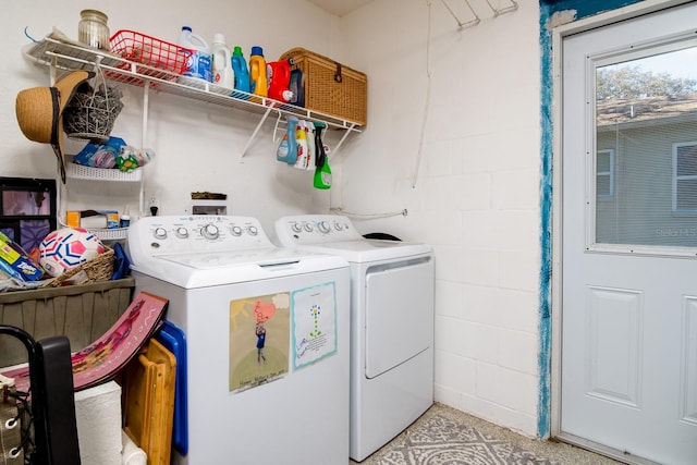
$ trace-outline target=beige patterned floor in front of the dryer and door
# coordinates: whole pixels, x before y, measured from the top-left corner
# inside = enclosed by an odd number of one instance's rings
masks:
[[[538,441],[436,403],[360,465],[612,465],[602,455],[555,441]],[[356,462],[350,461],[350,465]]]

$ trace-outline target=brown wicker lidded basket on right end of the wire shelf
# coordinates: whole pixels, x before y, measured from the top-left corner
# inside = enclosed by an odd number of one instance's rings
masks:
[[[368,113],[368,78],[321,54],[294,48],[279,61],[293,59],[293,69],[305,79],[305,108],[365,125]]]

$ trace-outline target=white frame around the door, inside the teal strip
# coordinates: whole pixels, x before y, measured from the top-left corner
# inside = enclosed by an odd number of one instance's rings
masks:
[[[626,462],[633,460],[633,464],[651,464],[652,462],[638,458],[627,457],[622,451],[608,448],[602,444],[589,441],[585,438],[564,435],[561,431],[561,358],[562,358],[562,164],[563,164],[563,95],[562,95],[562,68],[563,68],[563,40],[574,34],[585,33],[590,29],[607,26],[624,20],[631,20],[644,14],[653,13],[668,8],[676,7],[684,3],[690,3],[694,0],[645,0],[627,7],[619,8],[604,13],[599,13],[583,20],[573,21],[568,24],[554,26],[551,30],[552,51],[551,51],[551,72],[552,72],[552,98],[551,98],[551,118],[552,127],[552,201],[551,201],[551,360],[550,360],[550,402],[549,402],[549,431],[551,437],[559,438],[564,442],[570,442],[584,449],[592,450],[603,455],[614,457]],[[540,412],[543,406],[540,405]]]

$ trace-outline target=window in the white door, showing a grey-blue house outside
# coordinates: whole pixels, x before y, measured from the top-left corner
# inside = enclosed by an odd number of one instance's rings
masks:
[[[587,249],[695,255],[685,247],[697,247],[697,42],[678,38],[591,62]]]

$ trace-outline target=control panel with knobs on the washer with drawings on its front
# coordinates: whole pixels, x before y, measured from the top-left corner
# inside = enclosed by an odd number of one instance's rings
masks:
[[[129,247],[149,256],[272,246],[259,221],[252,217],[144,217],[129,228]]]

